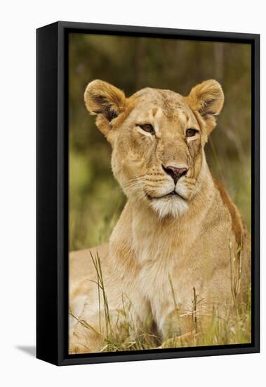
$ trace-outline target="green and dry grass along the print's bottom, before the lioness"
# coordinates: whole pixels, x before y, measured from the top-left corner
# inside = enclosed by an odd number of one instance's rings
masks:
[[[238,253],[241,256],[241,249]],[[88,322],[71,315],[88,331],[93,331],[94,334],[102,338],[100,352],[185,348],[251,342],[251,289],[248,291],[246,303],[240,303],[237,293],[240,292],[241,282],[237,277],[241,274],[241,264],[236,269],[234,258],[231,258],[232,301],[230,303],[213,305],[209,309],[201,308],[200,304],[203,299],[199,297],[196,289],[193,288],[191,309],[181,314],[175,299],[172,279],[169,277],[169,286],[171,286],[175,310],[174,318],[180,323],[180,319],[189,317],[191,329],[187,334],[181,336],[174,336],[169,332],[169,338],[166,341],[162,341],[161,336],[154,330],[151,316],[147,316],[145,324],[142,327],[138,326],[137,329],[133,320],[134,305],[124,293],[121,294],[122,309],[117,311],[115,317],[112,315],[109,310],[108,296],[102,277],[100,257],[98,254],[95,257],[91,255],[91,259],[97,274],[99,329],[96,330]]]

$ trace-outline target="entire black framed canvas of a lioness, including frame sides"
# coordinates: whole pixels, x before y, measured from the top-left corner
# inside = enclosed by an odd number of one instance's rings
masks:
[[[36,356],[259,352],[259,35],[36,36]]]

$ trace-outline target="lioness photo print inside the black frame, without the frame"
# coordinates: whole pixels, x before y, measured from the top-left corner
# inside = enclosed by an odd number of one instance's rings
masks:
[[[69,354],[251,343],[251,45],[69,34]]]

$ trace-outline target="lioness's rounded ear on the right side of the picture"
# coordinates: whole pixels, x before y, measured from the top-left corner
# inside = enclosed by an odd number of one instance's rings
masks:
[[[208,134],[215,128],[216,116],[222,110],[225,96],[220,83],[215,80],[204,81],[193,87],[187,96],[187,101],[206,122]]]

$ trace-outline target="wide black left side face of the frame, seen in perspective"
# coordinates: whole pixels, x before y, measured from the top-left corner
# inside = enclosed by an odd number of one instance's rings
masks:
[[[36,357],[58,364],[58,23],[36,30]]]

